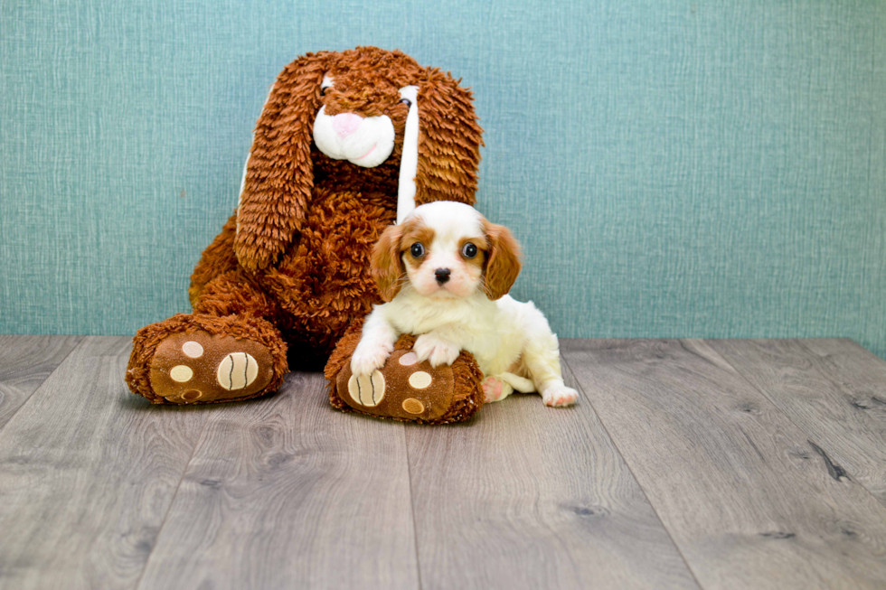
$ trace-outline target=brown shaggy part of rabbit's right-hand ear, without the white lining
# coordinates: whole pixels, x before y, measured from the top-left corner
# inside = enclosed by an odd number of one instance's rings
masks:
[[[448,73],[429,69],[425,75],[418,90],[420,134],[415,206],[431,201],[473,205],[483,145],[483,129],[476,122],[473,96]]]

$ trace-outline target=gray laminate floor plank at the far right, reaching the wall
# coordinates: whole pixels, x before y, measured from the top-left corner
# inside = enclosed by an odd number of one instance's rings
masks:
[[[850,340],[708,343],[886,505],[886,362]]]

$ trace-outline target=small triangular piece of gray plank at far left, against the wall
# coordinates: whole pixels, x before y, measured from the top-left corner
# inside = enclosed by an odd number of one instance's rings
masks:
[[[0,429],[80,340],[81,336],[0,336]]]

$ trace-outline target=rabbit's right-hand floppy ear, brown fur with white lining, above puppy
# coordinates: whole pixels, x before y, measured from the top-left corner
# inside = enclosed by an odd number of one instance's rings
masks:
[[[397,222],[431,201],[475,203],[483,129],[470,90],[440,70],[426,70],[418,86],[401,89],[410,100],[403,136]]]

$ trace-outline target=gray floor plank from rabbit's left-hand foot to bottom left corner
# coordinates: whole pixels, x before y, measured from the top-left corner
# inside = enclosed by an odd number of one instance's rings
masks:
[[[0,431],[0,587],[136,584],[203,417],[128,392],[129,342],[85,338]]]

